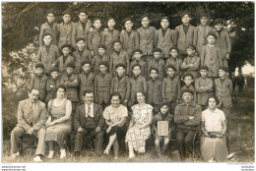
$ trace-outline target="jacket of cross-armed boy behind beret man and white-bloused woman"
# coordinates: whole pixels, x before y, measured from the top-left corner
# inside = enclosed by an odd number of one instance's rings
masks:
[[[210,78],[198,78],[195,82],[195,88],[197,92],[197,104],[207,105],[207,100],[210,95],[213,95],[214,84]],[[205,88],[205,90],[203,89]]]

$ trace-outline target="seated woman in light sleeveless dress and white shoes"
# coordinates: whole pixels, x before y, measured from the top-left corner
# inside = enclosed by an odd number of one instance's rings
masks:
[[[49,144],[49,154],[47,158],[52,158],[54,154],[53,142],[60,146],[60,158],[66,157],[65,142],[71,133],[71,101],[65,97],[66,87],[57,86],[56,98],[48,103],[48,119],[45,123],[46,138]]]

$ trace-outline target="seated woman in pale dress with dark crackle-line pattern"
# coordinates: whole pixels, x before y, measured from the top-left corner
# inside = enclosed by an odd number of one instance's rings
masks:
[[[138,104],[132,106],[132,118],[126,134],[125,142],[128,142],[129,158],[135,157],[134,150],[145,152],[145,142],[151,136],[150,125],[153,121],[153,107],[145,101],[146,93],[136,93]]]

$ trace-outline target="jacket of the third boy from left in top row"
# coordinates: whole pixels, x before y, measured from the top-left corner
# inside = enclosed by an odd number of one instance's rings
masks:
[[[73,30],[72,30],[72,45],[73,45],[73,47],[77,46],[76,38],[83,37],[86,40],[85,48],[88,49],[87,37],[88,37],[89,28],[92,28],[92,23],[90,21],[86,22],[85,30],[83,29],[81,22],[75,23],[73,25]]]

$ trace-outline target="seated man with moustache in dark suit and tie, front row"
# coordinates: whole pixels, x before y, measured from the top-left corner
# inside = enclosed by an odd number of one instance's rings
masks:
[[[80,105],[75,114],[74,126],[77,131],[75,138],[74,155],[81,154],[83,137],[92,136],[95,140],[95,151],[102,153],[104,118],[101,106],[94,103],[94,92],[86,90],[84,92],[85,104]]]

